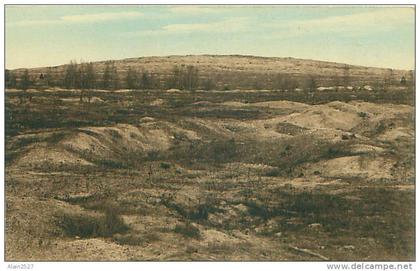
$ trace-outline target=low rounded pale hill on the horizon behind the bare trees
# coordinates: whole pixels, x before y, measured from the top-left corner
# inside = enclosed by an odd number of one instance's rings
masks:
[[[105,69],[106,61],[94,62],[97,80]],[[129,68],[148,72],[158,82],[157,88],[165,88],[165,81],[173,74],[175,66],[196,67],[199,71],[199,88],[211,80],[218,89],[275,89],[280,77],[291,78],[299,84],[314,78],[317,86],[352,85],[378,86],[386,80],[398,85],[404,76],[412,82],[412,72],[385,68],[363,67],[335,62],[297,58],[256,57],[242,55],[187,55],[164,57],[139,57],[115,60],[118,77],[124,87]],[[41,74],[48,74],[52,81],[60,82],[66,65],[29,69],[32,78],[38,80]],[[24,69],[12,70],[17,77]]]

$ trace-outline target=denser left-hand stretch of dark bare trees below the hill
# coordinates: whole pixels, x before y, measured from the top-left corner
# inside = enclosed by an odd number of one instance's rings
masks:
[[[195,90],[199,85],[198,68],[194,66],[175,66],[169,77],[162,80],[155,74],[142,70],[138,71],[129,67],[126,71],[117,71],[115,62],[107,61],[104,68],[98,71],[97,66],[91,62],[77,63],[71,61],[64,68],[64,73],[54,74],[49,72],[41,73],[39,76],[29,75],[24,70],[18,76],[15,72],[6,70],[6,88],[28,88],[61,87],[66,89],[107,89],[117,90],[128,89],[161,89],[178,88]],[[163,81],[163,82],[162,82]],[[207,82],[207,86],[213,86]]]

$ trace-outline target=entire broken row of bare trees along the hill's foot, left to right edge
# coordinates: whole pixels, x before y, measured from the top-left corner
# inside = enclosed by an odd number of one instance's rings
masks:
[[[98,69],[98,64],[91,62],[76,63],[71,61],[64,68],[63,73],[55,73],[51,68],[45,73],[37,76],[30,76],[28,70],[24,70],[17,76],[12,71],[6,70],[5,83],[6,88],[20,88],[26,91],[28,88],[48,88],[48,87],[61,87],[66,89],[80,89],[80,100],[86,96],[90,101],[91,89],[107,89],[117,90],[121,88],[128,89],[181,89],[194,91],[196,89],[213,90],[222,89],[229,90],[231,86],[228,84],[221,84],[214,80],[212,76],[200,76],[199,69],[192,65],[176,65],[173,67],[171,73],[167,76],[157,76],[154,73],[146,70],[136,70],[129,67],[125,71],[117,70],[114,61],[107,61],[104,67]],[[334,86],[350,86],[351,76],[350,67],[344,66],[342,74],[331,76],[331,81]],[[410,78],[402,77],[400,80],[401,85],[407,85],[408,82],[413,80]],[[389,70],[378,88],[389,88],[393,82],[394,74]],[[219,78],[220,79],[220,78]],[[252,81],[254,80],[254,81]],[[394,80],[395,81],[395,80]],[[271,75],[254,76],[254,79],[244,78],[242,81],[247,87],[253,89],[277,89],[277,90],[295,90],[300,88],[308,92],[314,92],[319,86],[316,76],[307,75],[305,77],[293,77],[289,74],[278,73]]]

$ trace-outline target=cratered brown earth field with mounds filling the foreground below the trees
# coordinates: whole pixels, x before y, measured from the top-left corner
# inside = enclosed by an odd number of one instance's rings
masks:
[[[414,260],[412,93],[6,91],[6,260]]]

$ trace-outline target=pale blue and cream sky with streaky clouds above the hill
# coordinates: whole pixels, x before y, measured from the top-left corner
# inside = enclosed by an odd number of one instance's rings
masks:
[[[414,8],[6,6],[6,68],[185,54],[413,69]]]

